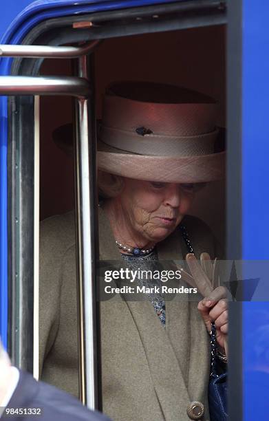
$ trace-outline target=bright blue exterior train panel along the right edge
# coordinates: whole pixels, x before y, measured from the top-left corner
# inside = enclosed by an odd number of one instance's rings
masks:
[[[269,259],[268,14],[267,0],[242,1],[242,257],[246,260]],[[243,419],[261,420],[269,389],[268,302],[244,303],[242,333]]]

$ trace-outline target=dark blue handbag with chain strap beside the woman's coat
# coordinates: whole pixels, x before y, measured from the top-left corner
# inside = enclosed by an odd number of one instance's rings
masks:
[[[215,324],[211,324],[211,375],[208,404],[211,421],[227,421],[227,374],[217,374],[217,341]]]

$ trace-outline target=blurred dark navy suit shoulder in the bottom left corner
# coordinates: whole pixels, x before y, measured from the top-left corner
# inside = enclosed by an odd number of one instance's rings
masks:
[[[32,375],[20,371],[17,388],[8,408],[40,408],[43,421],[109,421],[105,415],[89,411],[74,396],[44,382],[37,382]],[[33,415],[29,416],[29,420]],[[28,420],[26,415],[23,420]]]

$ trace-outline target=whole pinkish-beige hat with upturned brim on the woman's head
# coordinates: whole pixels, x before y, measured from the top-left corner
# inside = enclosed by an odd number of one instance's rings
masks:
[[[106,91],[98,127],[98,169],[159,182],[220,180],[225,152],[216,152],[216,113],[212,98],[189,89],[114,83]],[[66,133],[67,128],[65,144]],[[63,129],[54,131],[53,137],[61,144]]]

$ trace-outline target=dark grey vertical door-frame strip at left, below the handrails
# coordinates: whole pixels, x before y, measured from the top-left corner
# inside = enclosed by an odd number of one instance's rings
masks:
[[[34,97],[10,101],[8,140],[9,352],[33,372],[34,338]],[[27,142],[25,142],[27,139]]]

